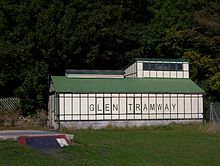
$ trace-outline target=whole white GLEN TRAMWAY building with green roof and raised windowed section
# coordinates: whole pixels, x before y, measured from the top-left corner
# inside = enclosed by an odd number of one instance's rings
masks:
[[[204,91],[185,60],[135,59],[122,71],[52,76],[49,125],[102,128],[203,121]]]

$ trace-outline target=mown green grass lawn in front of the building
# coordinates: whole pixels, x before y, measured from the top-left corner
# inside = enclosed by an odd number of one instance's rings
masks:
[[[71,146],[50,154],[0,141],[0,166],[220,165],[220,135],[202,125],[65,132]]]

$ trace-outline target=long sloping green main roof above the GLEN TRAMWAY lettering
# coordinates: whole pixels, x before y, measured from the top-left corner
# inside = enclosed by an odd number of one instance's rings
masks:
[[[52,76],[56,92],[73,93],[204,93],[190,79],[67,78]]]

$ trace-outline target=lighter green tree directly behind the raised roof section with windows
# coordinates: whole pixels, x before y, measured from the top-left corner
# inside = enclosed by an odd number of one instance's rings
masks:
[[[143,40],[146,54],[150,57],[181,57],[186,45],[185,34],[191,27],[197,5],[191,0],[153,1],[150,9],[154,17]]]

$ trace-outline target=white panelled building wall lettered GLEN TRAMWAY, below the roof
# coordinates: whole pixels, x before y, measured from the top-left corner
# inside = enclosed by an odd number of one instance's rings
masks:
[[[132,121],[203,119],[202,94],[74,94],[51,102],[52,121]],[[56,124],[51,123],[56,127]]]

